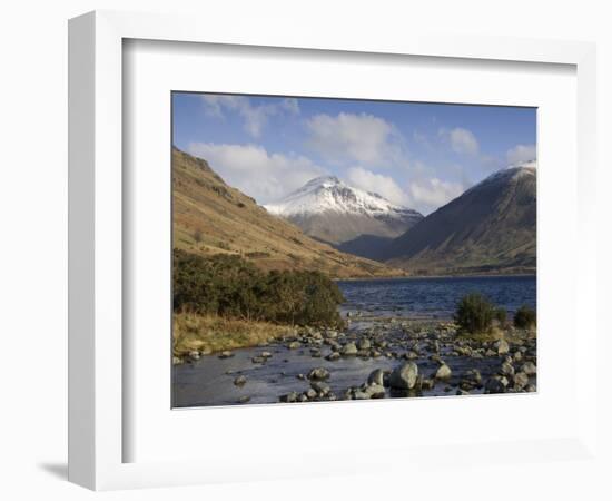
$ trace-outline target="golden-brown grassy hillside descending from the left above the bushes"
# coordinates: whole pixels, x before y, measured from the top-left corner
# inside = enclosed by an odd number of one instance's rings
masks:
[[[263,269],[319,269],[334,277],[404,274],[313,240],[226,185],[205,160],[176,148],[172,209],[174,246],[190,253],[240,254]]]

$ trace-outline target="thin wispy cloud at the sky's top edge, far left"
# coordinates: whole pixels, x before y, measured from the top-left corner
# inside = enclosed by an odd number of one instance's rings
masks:
[[[269,117],[286,112],[299,114],[297,99],[286,98],[274,104],[254,106],[245,96],[219,96],[205,94],[201,96],[206,112],[210,116],[224,118],[226,111],[237,112],[244,120],[245,130],[253,137],[260,137]]]

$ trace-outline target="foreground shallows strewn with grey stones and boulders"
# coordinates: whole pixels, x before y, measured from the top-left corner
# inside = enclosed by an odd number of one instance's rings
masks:
[[[345,331],[298,328],[253,348],[190,353],[175,365],[175,404],[535,392],[535,336],[509,328],[500,337],[463,336],[452,322],[397,318],[358,318]]]

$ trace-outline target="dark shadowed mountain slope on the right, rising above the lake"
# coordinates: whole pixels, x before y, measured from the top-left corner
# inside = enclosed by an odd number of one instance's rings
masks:
[[[535,163],[493,174],[396,238],[384,258],[412,273],[534,272]]]

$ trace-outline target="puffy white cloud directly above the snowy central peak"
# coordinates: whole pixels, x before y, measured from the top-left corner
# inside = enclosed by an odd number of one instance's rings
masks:
[[[367,114],[316,115],[306,121],[307,143],[324,158],[384,166],[401,157],[401,137],[386,120]]]

